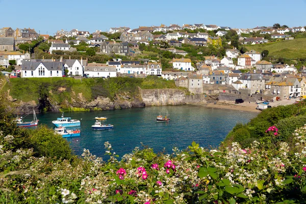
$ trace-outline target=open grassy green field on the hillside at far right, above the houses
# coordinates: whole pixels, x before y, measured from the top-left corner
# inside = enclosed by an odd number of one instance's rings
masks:
[[[266,44],[246,45],[248,50],[254,49],[258,52],[269,50],[269,56],[283,58],[305,58],[306,57],[306,38],[294,40],[281,40]]]

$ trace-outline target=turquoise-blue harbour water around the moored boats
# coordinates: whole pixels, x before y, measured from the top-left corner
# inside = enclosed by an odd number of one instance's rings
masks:
[[[166,110],[169,122],[156,122],[156,117]],[[52,120],[60,113],[38,114],[39,123],[54,127]],[[81,155],[89,149],[96,156],[103,157],[104,142],[109,141],[120,157],[131,153],[138,146],[154,148],[155,152],[171,152],[173,147],[185,149],[195,141],[203,147],[216,147],[238,122],[247,123],[257,113],[210,109],[200,106],[163,106],[98,112],[71,112],[65,117],[81,120],[81,137],[67,138],[75,154]],[[106,124],[114,124],[113,130],[94,131],[94,117],[107,117]]]

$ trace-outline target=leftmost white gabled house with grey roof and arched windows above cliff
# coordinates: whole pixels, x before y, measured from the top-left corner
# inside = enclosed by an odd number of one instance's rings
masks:
[[[63,73],[63,62],[24,60],[21,65],[22,78],[63,77]]]

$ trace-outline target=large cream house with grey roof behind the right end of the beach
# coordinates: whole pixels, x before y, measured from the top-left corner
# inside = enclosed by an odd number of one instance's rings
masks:
[[[238,80],[242,84],[237,84],[238,86],[233,86],[239,90],[239,89],[248,89],[249,94],[257,94],[257,93],[264,93],[265,90],[265,80],[263,78],[262,74],[257,73],[244,73],[241,75]]]

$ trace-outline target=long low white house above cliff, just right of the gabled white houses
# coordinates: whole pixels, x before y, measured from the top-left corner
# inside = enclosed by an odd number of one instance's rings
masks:
[[[115,66],[85,66],[84,74],[87,74],[88,77],[117,77]]]

